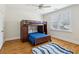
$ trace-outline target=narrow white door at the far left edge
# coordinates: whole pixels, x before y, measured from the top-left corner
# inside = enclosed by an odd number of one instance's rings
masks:
[[[5,5],[0,4],[0,49],[4,43]]]

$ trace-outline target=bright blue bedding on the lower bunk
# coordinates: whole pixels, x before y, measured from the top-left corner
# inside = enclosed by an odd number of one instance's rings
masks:
[[[38,33],[38,32],[29,33],[29,41],[32,44],[34,44],[36,39],[46,37],[46,36],[48,36],[48,35],[44,34],[44,33]]]

